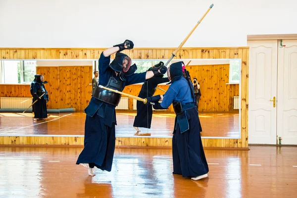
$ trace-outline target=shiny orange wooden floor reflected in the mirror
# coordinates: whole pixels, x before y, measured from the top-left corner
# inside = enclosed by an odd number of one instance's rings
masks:
[[[132,137],[136,132],[133,128],[136,112],[117,112],[117,137]],[[49,113],[46,121],[33,121],[31,113],[0,113],[0,136],[30,136],[30,135],[84,135],[86,114]],[[175,114],[154,112],[151,137],[171,137]],[[200,113],[202,137],[239,138],[239,114]],[[143,132],[147,129],[141,128]]]

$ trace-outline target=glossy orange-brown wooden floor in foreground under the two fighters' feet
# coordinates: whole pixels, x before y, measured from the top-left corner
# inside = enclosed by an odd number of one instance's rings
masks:
[[[3,198],[296,198],[297,147],[205,149],[209,177],[172,174],[171,149],[116,148],[111,172],[75,162],[82,148],[0,147]]]

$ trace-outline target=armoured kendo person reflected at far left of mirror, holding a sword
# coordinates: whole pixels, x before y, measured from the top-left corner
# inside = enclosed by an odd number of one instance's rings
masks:
[[[49,101],[49,94],[43,80],[44,77],[42,75],[37,75],[36,82],[33,85],[34,101],[38,100],[33,104],[35,120],[44,120],[48,117],[47,102]],[[44,93],[45,95],[43,95]]]

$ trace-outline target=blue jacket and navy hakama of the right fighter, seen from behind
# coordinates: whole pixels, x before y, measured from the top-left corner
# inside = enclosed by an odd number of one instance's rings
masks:
[[[175,117],[172,137],[173,173],[183,177],[197,177],[208,172],[200,131],[201,125],[197,107],[191,95],[192,87],[184,77],[174,81],[163,95],[162,108],[168,108],[179,101],[185,110]]]

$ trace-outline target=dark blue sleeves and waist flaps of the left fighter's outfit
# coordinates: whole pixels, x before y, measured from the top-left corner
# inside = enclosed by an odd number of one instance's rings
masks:
[[[110,56],[105,57],[102,52],[99,58],[99,85],[105,86],[110,77],[120,80],[119,75],[116,76],[115,71],[109,67],[109,64]],[[125,86],[128,85],[146,82],[146,74],[147,72],[143,72],[126,76],[122,89],[124,90]],[[106,126],[111,127],[113,122],[116,125],[115,106],[99,99],[92,97],[89,105],[85,108],[85,113],[91,117],[97,113],[101,118],[104,118],[104,125]]]

